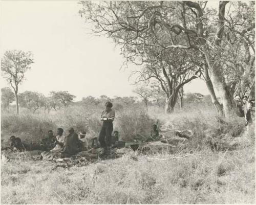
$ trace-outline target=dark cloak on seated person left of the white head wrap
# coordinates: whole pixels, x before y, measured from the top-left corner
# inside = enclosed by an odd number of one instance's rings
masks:
[[[78,152],[78,135],[77,133],[71,133],[67,136],[65,145],[63,147],[63,153],[73,155]]]

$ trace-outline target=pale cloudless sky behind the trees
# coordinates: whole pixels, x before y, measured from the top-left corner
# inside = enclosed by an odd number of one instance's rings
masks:
[[[216,2],[211,2],[214,4]],[[67,90],[82,97],[135,96],[133,67],[121,69],[124,58],[112,39],[90,34],[75,1],[2,1],[1,57],[6,50],[31,51],[34,63],[19,92],[48,95]],[[1,87],[8,86],[1,76]],[[203,80],[184,86],[185,93],[208,95]]]

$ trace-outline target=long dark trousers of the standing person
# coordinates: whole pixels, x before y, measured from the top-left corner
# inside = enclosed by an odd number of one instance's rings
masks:
[[[112,132],[113,132],[113,123],[104,121],[99,133],[99,142],[102,148],[111,146]]]

